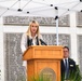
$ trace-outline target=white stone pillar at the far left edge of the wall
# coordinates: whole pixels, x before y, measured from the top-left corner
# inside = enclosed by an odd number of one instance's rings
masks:
[[[3,27],[2,17],[0,17],[0,81],[4,81],[4,54],[3,54]]]

